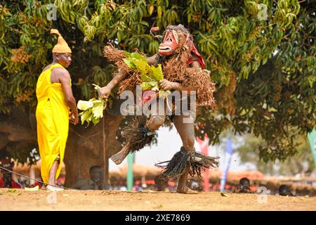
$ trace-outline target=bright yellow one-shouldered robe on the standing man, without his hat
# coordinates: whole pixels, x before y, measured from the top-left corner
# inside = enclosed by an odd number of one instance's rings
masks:
[[[51,83],[53,68],[63,67],[58,63],[51,65],[39,75],[37,81],[37,141],[41,156],[41,177],[46,184],[49,170],[58,155],[60,164],[55,179],[60,174],[69,128],[69,108],[62,92],[62,84]]]

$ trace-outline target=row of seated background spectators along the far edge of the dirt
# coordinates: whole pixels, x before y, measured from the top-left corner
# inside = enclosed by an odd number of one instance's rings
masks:
[[[13,179],[12,173],[14,162],[11,158],[5,157],[0,159],[0,166],[4,169],[0,169],[0,188],[32,188],[39,186],[39,188],[44,189],[44,185],[41,183],[41,178],[38,177],[38,181],[32,181],[24,176],[15,176],[18,179]],[[126,181],[119,181],[119,183],[110,185],[103,184],[103,173],[100,166],[92,166],[90,168],[90,179],[81,179],[77,181],[76,184],[72,185],[70,188],[78,190],[117,190],[117,191],[127,191]],[[60,177],[56,181],[56,186],[63,186],[65,183],[65,178]],[[189,179],[187,181],[187,186],[196,191],[204,191],[203,183],[201,180]],[[167,181],[164,176],[158,175],[155,177],[154,181],[135,181],[132,191],[176,191],[176,184]],[[220,191],[220,183],[210,184],[211,191]],[[225,186],[225,191],[229,193],[257,193],[256,186],[251,186],[251,182],[248,178],[243,177],[240,179],[239,184],[227,184]],[[290,186],[282,184],[279,186],[278,191],[270,193],[273,195],[299,195],[299,193],[294,194],[291,191]]]

